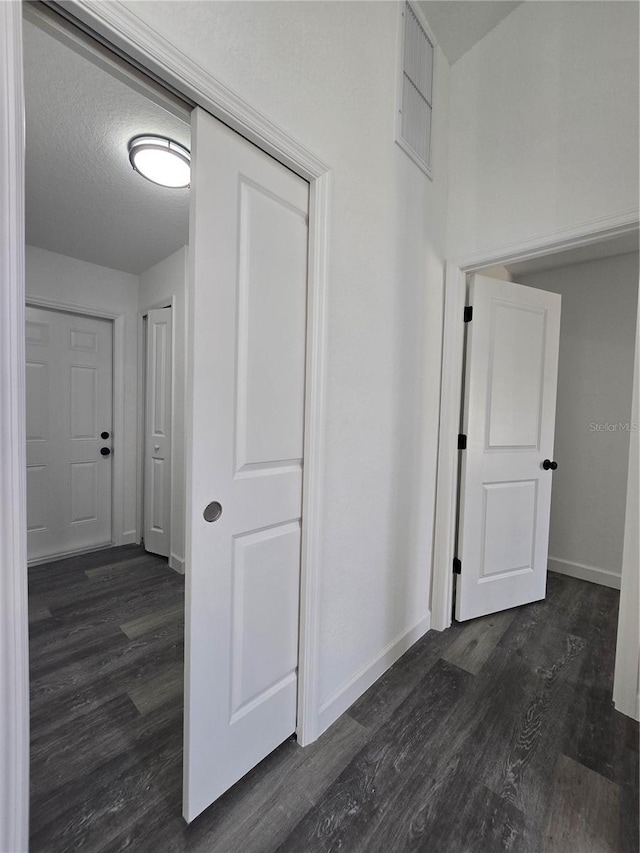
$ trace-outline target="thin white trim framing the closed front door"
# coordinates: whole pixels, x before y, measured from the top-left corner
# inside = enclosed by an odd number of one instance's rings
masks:
[[[113,462],[111,468],[111,539],[114,545],[126,545],[124,533],[124,387],[125,387],[125,315],[100,311],[97,308],[87,308],[77,302],[62,302],[59,299],[49,299],[46,296],[36,296],[27,293],[26,304],[37,308],[51,308],[64,311],[67,314],[80,314],[85,317],[98,317],[110,320],[112,323],[113,345],[113,401],[112,417],[113,432],[111,443],[113,447]],[[59,559],[52,555],[47,559]],[[35,563],[30,563],[35,565]]]

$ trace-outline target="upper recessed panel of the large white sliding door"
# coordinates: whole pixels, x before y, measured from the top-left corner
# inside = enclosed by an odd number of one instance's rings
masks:
[[[240,179],[237,469],[302,461],[306,216]],[[285,247],[286,251],[282,251]],[[279,287],[270,286],[278,281]],[[278,322],[266,323],[267,317]]]

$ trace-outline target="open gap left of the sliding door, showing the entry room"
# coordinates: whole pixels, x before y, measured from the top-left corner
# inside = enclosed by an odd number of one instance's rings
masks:
[[[166,380],[152,400],[164,455],[154,454],[150,532],[164,535],[171,500],[184,503],[183,446],[173,455],[181,469],[163,474],[172,423],[184,421],[172,408],[184,407],[185,383],[171,342],[184,354],[190,191],[142,180],[127,143],[155,132],[188,147],[190,110],[28,4],[23,50],[31,839],[70,849],[97,846],[96,804],[119,776],[150,771],[150,731],[181,774],[184,578],[168,562],[184,566],[184,510],[164,547],[144,537],[164,557],[143,550],[138,322],[161,300],[178,318],[173,335],[159,325],[150,336]],[[84,827],[56,822],[69,803]]]

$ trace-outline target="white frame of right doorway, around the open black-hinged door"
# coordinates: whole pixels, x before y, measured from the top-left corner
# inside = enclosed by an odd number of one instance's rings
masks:
[[[478,252],[463,261],[447,262],[445,271],[444,326],[442,342],[442,382],[438,431],[436,517],[431,588],[431,627],[444,631],[451,625],[453,602],[453,558],[458,493],[457,438],[462,402],[462,360],[464,347],[463,308],[468,273],[483,268],[540,258],[568,249],[594,245],[638,231],[638,211],[585,223],[584,226],[552,235],[542,235],[527,243]],[[635,353],[638,360],[638,349]],[[627,493],[627,506],[631,505]]]

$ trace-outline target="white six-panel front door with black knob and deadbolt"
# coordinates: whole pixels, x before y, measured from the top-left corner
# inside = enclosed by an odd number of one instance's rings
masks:
[[[26,309],[30,560],[111,542],[112,324]]]

